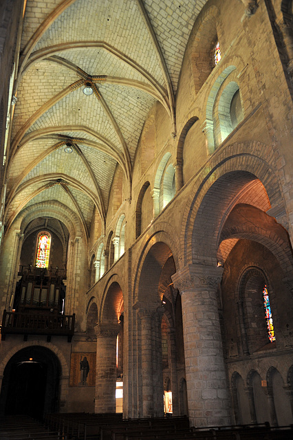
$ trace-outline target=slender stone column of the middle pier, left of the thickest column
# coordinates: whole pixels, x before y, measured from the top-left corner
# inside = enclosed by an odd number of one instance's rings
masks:
[[[138,316],[140,325],[140,373],[142,377],[142,415],[140,417],[162,417],[163,380],[162,380],[162,342],[161,349],[153,336],[158,333],[158,314],[155,308],[140,307]],[[162,318],[162,317],[161,317]],[[159,384],[161,380],[161,384]]]

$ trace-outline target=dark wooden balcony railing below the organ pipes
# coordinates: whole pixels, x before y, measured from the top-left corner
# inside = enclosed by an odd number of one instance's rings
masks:
[[[23,335],[24,340],[28,339],[28,335],[47,335],[47,341],[51,340],[51,336],[67,336],[68,342],[71,342],[74,321],[75,314],[35,314],[4,310],[1,339],[5,340],[8,334]]]

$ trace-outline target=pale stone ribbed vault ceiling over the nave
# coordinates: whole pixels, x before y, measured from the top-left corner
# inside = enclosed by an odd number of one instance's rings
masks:
[[[105,222],[117,164],[131,189],[135,149],[156,101],[175,128],[182,58],[206,0],[28,0],[15,90],[6,226],[59,201],[85,234]],[[90,83],[94,94],[85,96]],[[72,153],[65,153],[66,144]],[[129,193],[130,196],[130,193]]]

